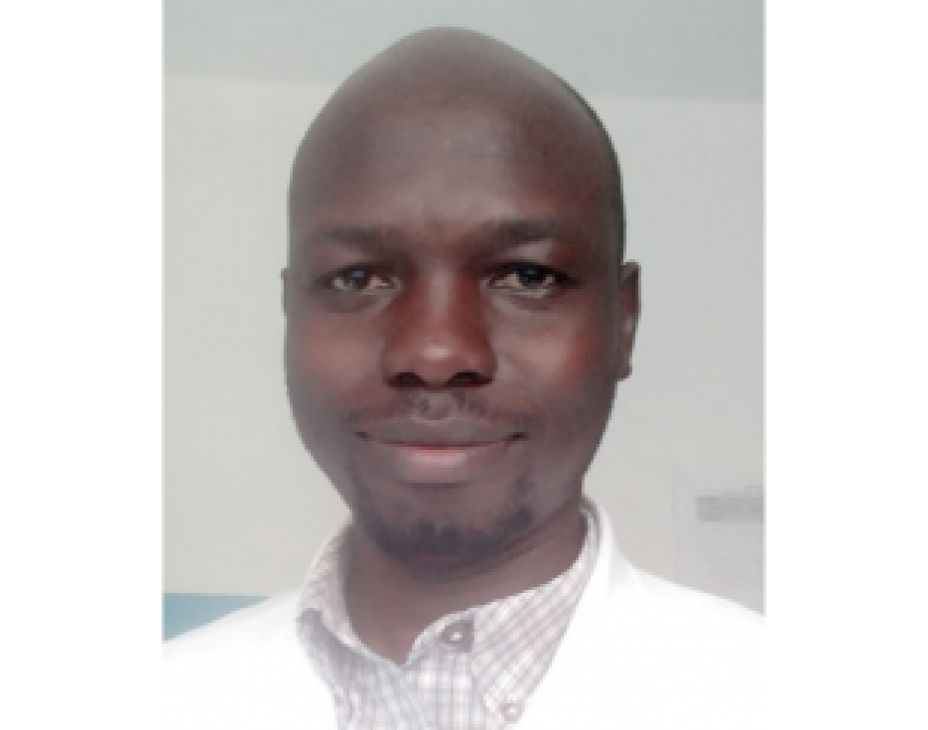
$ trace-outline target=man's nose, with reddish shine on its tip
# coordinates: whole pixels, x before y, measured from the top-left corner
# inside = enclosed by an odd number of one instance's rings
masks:
[[[390,318],[384,376],[395,388],[478,387],[497,358],[479,291],[433,286],[407,292]]]

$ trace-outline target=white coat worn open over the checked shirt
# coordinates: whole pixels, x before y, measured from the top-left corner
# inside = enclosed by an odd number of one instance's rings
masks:
[[[603,549],[518,730],[764,730],[766,620]],[[161,647],[161,730],[338,730],[283,596]],[[402,728],[397,728],[402,730]]]

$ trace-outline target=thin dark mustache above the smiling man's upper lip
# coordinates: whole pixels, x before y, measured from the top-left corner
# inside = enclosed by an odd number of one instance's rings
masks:
[[[539,418],[533,413],[491,405],[482,396],[466,390],[440,393],[410,390],[396,394],[389,403],[352,411],[348,417],[353,429],[396,421],[458,421],[518,433],[535,431],[539,424]]]

